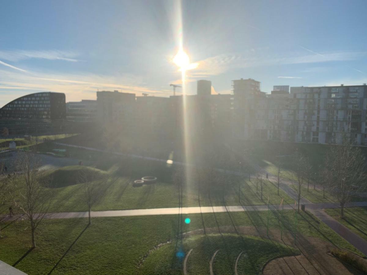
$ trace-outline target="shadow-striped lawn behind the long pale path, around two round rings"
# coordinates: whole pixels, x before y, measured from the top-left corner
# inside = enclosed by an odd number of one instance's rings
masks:
[[[77,172],[80,169],[96,171],[106,174],[103,170],[88,168],[87,166],[66,166],[50,172],[53,176],[56,186],[56,197],[51,207],[53,212],[76,212],[86,211],[87,206],[83,201],[83,184],[77,184]],[[148,168],[147,168],[148,169]],[[153,167],[152,169],[156,169]],[[160,173],[158,181],[155,184],[144,185],[142,187],[132,187],[132,181],[142,176],[154,175],[154,172],[141,172],[139,176],[136,174],[131,176],[118,176],[117,180],[110,179],[110,184],[106,192],[102,194],[99,202],[97,202],[92,210],[121,210],[121,209],[141,209],[141,208],[165,208],[178,207],[178,190],[172,183],[168,170],[156,170]],[[166,174],[168,175],[166,175]],[[241,184],[241,204],[242,205],[264,205],[270,196],[270,204],[280,204],[281,198],[284,203],[292,203],[292,199],[282,190],[277,195],[277,188],[269,181],[264,180],[263,198],[260,195],[260,184],[258,184],[258,192],[256,192],[256,184],[254,179],[245,180],[243,177],[233,177],[231,183],[225,188],[225,205],[240,205],[238,202],[238,186]],[[199,206],[198,186],[192,183],[183,188],[182,197],[183,206]],[[211,191],[211,199],[201,189],[200,195],[201,206],[218,206],[224,205],[222,199],[222,188],[213,188]]]

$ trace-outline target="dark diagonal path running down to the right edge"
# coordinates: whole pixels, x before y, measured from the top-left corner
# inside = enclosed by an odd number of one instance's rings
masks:
[[[340,207],[340,206],[339,206]],[[337,232],[340,236],[350,242],[363,254],[367,255],[367,241],[352,230],[339,223],[333,217],[329,216],[323,209],[310,209],[310,212],[318,217],[323,223],[327,224],[331,229]]]

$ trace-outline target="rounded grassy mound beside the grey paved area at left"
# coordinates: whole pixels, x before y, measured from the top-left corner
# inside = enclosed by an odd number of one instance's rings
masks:
[[[86,177],[83,177],[83,179],[81,179],[81,173],[86,175]],[[51,172],[47,173],[46,176],[52,178],[52,187],[65,187],[81,183],[83,180],[99,180],[105,175],[106,172],[96,168],[92,168],[89,166],[73,165],[52,170]]]

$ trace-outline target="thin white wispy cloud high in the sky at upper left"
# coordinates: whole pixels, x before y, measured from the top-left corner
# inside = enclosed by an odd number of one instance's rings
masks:
[[[58,50],[46,50],[46,51],[0,51],[0,59],[5,59],[12,62],[18,62],[19,60],[39,58],[49,60],[64,60],[70,62],[84,61],[76,59],[78,54],[72,51],[58,51]]]

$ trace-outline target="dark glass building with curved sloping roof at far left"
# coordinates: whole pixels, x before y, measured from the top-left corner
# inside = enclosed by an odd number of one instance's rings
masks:
[[[0,119],[55,120],[66,118],[65,94],[40,92],[13,100],[0,109]]]

